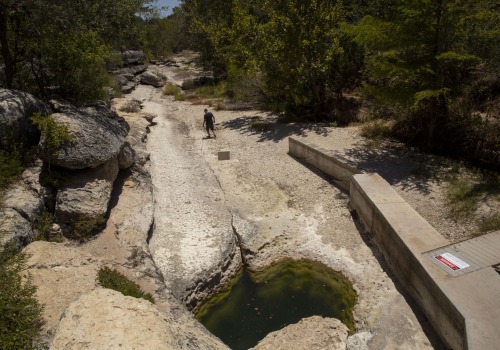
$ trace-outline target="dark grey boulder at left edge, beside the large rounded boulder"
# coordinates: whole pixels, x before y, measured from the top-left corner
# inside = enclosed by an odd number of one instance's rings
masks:
[[[48,105],[27,92],[0,89],[0,149],[16,142],[36,145],[40,133],[29,120],[35,113],[46,116],[51,111]]]

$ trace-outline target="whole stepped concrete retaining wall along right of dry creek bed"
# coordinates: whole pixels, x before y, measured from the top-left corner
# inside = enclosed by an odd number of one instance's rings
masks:
[[[339,180],[392,271],[455,350],[498,349],[500,278],[493,268],[454,277],[423,253],[449,242],[378,174],[360,174],[328,151],[289,138],[289,153]]]

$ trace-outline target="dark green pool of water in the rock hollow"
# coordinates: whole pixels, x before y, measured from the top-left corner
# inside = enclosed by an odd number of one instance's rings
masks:
[[[247,350],[268,333],[319,315],[354,331],[356,292],[350,281],[326,265],[285,259],[262,272],[242,269],[196,314],[233,350]]]

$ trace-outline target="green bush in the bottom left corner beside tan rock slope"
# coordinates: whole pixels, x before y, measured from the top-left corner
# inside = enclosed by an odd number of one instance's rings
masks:
[[[41,340],[43,306],[24,274],[26,256],[12,254],[11,248],[4,246],[0,253],[0,349],[46,349]]]

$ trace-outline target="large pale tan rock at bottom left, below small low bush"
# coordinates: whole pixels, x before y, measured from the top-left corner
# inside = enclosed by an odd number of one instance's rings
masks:
[[[64,312],[52,350],[227,349],[208,335],[194,334],[150,302],[98,288]]]

